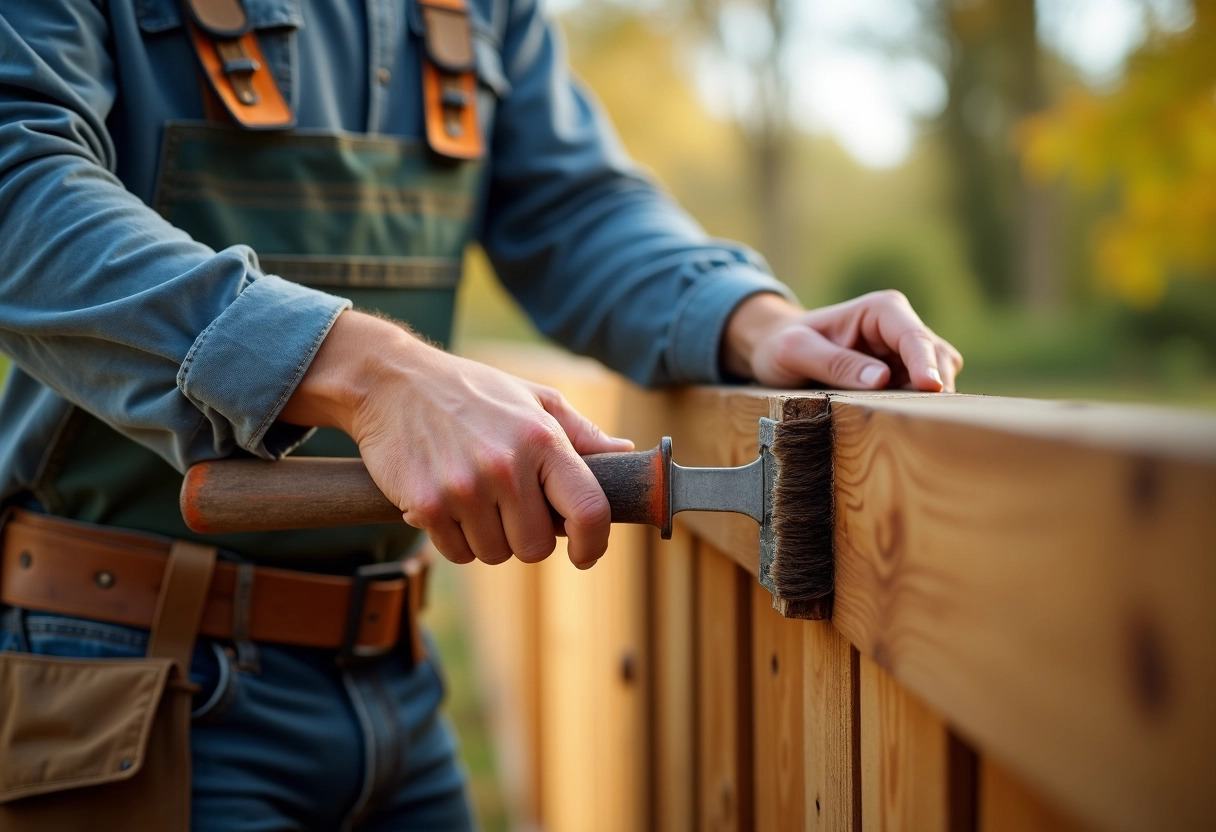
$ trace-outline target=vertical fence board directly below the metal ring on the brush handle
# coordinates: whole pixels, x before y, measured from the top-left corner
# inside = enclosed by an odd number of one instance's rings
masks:
[[[676,527],[651,534],[653,830],[693,830],[697,809],[696,543]]]

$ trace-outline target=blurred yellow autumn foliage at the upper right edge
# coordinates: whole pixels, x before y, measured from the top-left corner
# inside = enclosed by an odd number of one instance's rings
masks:
[[[1171,277],[1216,275],[1216,0],[1178,33],[1154,33],[1110,94],[1076,89],[1023,127],[1040,181],[1111,192],[1093,232],[1099,279],[1153,307]]]

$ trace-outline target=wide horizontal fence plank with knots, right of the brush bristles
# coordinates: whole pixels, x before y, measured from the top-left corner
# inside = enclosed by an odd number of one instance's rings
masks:
[[[837,628],[1080,819],[1211,828],[1206,450],[1052,438],[1046,420],[1014,433],[984,426],[991,403],[964,423],[924,401],[833,399]]]

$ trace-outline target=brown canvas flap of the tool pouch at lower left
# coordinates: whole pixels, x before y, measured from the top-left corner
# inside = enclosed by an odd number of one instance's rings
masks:
[[[0,653],[0,803],[134,776],[171,668]]]

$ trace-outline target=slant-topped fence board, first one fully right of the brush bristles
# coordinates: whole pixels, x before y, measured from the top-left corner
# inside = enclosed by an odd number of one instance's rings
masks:
[[[865,832],[946,832],[950,737],[930,710],[861,657]]]

